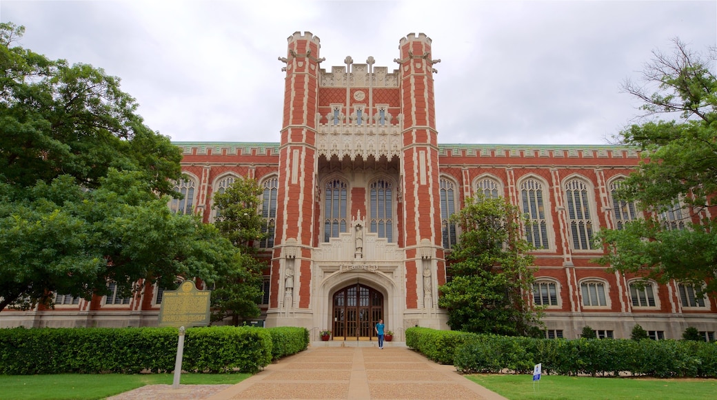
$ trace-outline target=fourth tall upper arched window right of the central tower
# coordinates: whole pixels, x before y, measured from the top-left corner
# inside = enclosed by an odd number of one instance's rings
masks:
[[[565,184],[565,196],[570,219],[570,234],[573,249],[592,249],[592,219],[590,219],[590,201],[587,185],[579,179],[571,179]]]

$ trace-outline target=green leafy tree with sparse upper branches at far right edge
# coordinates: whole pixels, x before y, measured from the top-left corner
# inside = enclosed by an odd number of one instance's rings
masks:
[[[645,219],[622,230],[600,232],[598,240],[607,253],[597,262],[657,282],[678,280],[698,288],[706,284],[706,292],[715,292],[717,79],[710,70],[713,64],[703,55],[678,39],[673,43],[672,54],[653,52],[644,85],[629,80],[623,85],[652,117],[617,136],[619,143],[639,148],[642,157],[618,196],[636,201]],[[673,119],[657,119],[658,115]],[[677,224],[660,217],[674,216],[677,209],[685,216]]]

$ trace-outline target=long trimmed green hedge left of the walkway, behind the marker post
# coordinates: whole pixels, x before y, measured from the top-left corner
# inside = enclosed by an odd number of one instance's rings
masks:
[[[0,329],[0,374],[174,371],[176,328]],[[305,328],[189,328],[182,369],[255,373],[308,346]]]

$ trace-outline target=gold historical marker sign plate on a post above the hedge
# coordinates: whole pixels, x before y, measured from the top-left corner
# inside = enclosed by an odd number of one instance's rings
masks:
[[[159,308],[159,326],[209,325],[209,293],[187,280],[177,290],[166,290]]]

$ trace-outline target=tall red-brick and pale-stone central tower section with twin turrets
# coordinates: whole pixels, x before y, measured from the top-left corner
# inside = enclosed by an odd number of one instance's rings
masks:
[[[318,37],[295,32],[279,57],[286,74],[267,325],[333,329],[344,340],[370,339],[376,318],[399,340],[414,325],[445,329],[440,60],[431,39],[401,39],[392,72],[370,56],[323,70],[319,49]],[[366,313],[353,292],[374,299]]]

